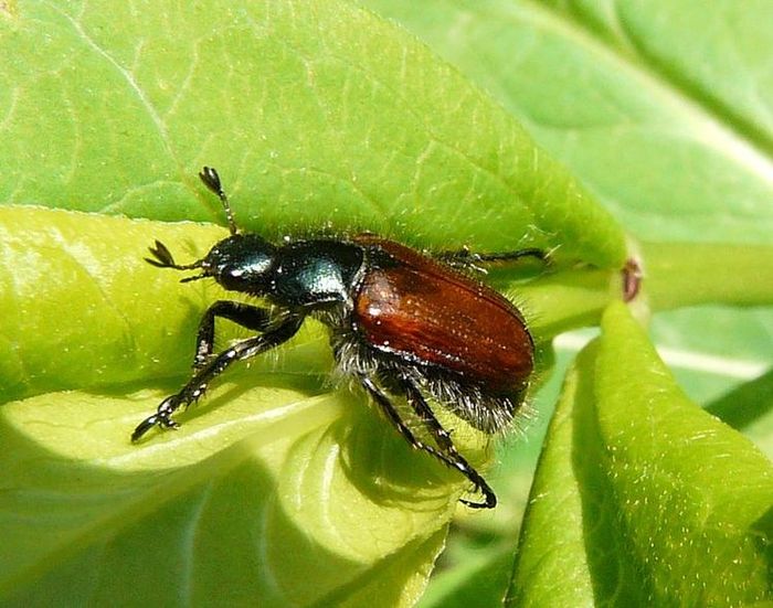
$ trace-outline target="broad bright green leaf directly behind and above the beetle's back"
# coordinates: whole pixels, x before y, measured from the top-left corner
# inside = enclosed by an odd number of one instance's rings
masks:
[[[271,236],[367,227],[623,265],[620,227],[506,111],[348,3],[20,3],[0,54],[0,200],[214,220],[191,193],[210,164]]]

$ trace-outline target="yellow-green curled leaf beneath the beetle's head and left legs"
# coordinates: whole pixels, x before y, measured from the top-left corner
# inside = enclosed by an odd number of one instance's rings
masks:
[[[184,604],[218,580],[267,606],[357,605],[370,586],[385,605],[421,594],[464,480],[416,460],[361,396],[331,391],[318,326],[282,363],[230,372],[181,433],[129,442],[182,383],[201,311],[222,297],[144,263],[144,245],[158,237],[195,258],[222,228],[14,206],[0,218],[12,344],[0,375],[0,535],[12,547],[0,597],[100,604],[140,588]],[[458,430],[481,465],[484,441]],[[182,574],[159,590],[170,563]],[[88,577],[72,586],[76,570]]]

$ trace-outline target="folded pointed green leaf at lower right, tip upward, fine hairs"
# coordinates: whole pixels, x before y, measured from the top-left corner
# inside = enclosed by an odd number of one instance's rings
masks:
[[[770,461],[690,403],[622,305],[602,331],[551,424],[511,604],[770,600]]]

